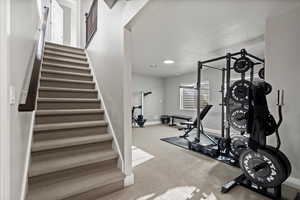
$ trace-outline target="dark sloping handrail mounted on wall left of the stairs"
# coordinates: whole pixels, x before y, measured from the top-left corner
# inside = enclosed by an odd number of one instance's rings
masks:
[[[40,35],[39,35],[39,39],[37,40],[37,48],[35,52],[35,58],[33,62],[33,68],[31,72],[27,97],[24,104],[19,104],[18,107],[19,112],[28,112],[28,111],[35,110],[39,76],[40,76],[40,70],[41,70],[43,54],[44,54],[48,15],[49,15],[49,8],[44,7],[42,24],[40,28]]]

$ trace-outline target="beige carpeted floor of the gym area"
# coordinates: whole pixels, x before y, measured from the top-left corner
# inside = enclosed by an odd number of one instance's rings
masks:
[[[151,126],[134,129],[133,134],[133,145],[154,158],[134,168],[134,185],[101,200],[268,199],[239,186],[222,194],[221,185],[240,175],[240,170],[160,140],[181,134],[175,128]],[[287,187],[283,193],[291,200],[296,196]]]

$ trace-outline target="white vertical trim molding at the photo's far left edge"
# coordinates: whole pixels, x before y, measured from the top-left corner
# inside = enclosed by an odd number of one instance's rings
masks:
[[[0,3],[0,199],[10,200],[10,0]]]

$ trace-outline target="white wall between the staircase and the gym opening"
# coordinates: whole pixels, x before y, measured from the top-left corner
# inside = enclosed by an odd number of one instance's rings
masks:
[[[88,12],[92,1],[81,2],[81,45],[84,47],[84,13]],[[128,167],[125,169],[126,175],[131,174],[131,143],[126,143],[131,136],[131,96],[126,96],[131,84],[131,66],[125,57],[124,27],[147,2],[148,0],[120,0],[113,9],[109,9],[104,1],[98,1],[98,31],[87,49],[124,156],[125,168]]]

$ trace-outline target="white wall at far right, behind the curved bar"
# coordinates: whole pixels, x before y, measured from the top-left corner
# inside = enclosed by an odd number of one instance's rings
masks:
[[[283,123],[279,129],[282,151],[289,157],[293,172],[290,179],[300,188],[300,7],[285,14],[269,18],[266,24],[266,78],[273,85],[269,106],[276,114],[276,90],[285,90]],[[271,142],[274,143],[274,138]]]

